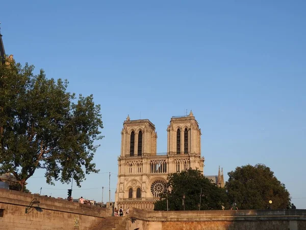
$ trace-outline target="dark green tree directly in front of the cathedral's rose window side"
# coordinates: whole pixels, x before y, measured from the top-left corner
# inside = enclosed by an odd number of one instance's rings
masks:
[[[167,186],[168,193],[165,191],[161,195],[161,199],[155,203],[155,210],[167,210],[167,197],[169,210],[184,210],[184,195],[185,210],[198,210],[201,193],[201,210],[221,210],[222,205],[228,203],[225,190],[217,187],[199,170],[189,169],[169,174]]]

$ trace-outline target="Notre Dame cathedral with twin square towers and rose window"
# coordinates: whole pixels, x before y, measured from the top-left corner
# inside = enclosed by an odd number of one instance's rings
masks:
[[[127,116],[121,131],[115,207],[154,209],[154,203],[166,191],[169,173],[189,168],[203,171],[201,130],[192,111],[189,116],[172,117],[167,132],[167,153],[159,154],[154,124]],[[207,177],[224,187],[220,168],[218,176]]]

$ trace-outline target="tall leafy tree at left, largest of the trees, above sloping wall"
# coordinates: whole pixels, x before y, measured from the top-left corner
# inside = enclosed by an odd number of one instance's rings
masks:
[[[24,189],[36,169],[45,169],[46,182],[80,186],[101,139],[100,106],[93,96],[75,98],[68,82],[47,79],[43,70],[22,67],[14,60],[0,63],[0,174],[12,173]]]

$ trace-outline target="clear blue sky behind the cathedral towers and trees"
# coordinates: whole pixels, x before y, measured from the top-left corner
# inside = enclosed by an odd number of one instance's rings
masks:
[[[4,1],[0,21],[7,54],[101,104],[105,138],[94,162],[112,172],[112,200],[127,114],[154,123],[158,152],[166,152],[171,116],[192,109],[206,175],[219,165],[227,173],[263,163],[306,209],[305,8],[304,1]],[[49,186],[42,176],[28,180],[32,192],[67,196],[70,185]],[[100,201],[104,186],[107,201],[108,182],[107,173],[88,175],[73,197]]]

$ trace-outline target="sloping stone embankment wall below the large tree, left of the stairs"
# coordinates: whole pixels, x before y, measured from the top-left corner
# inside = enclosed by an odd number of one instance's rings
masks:
[[[25,213],[34,198],[42,212]],[[108,216],[106,208],[0,189],[0,229],[91,229]]]

